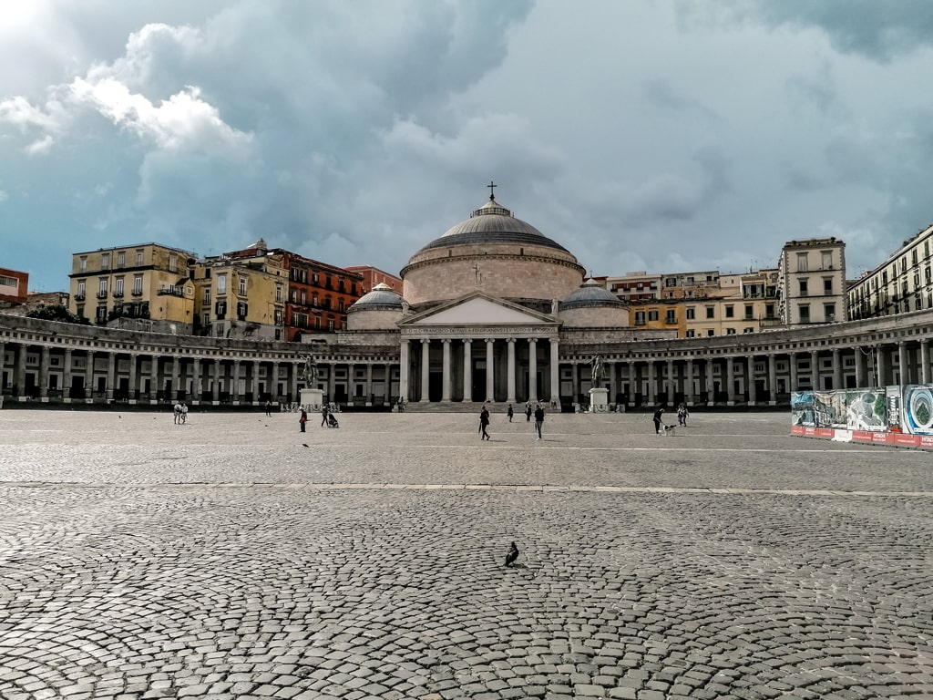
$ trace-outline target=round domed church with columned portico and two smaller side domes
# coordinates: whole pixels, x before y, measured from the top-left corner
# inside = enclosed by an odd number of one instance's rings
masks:
[[[401,296],[377,285],[356,301],[347,329],[322,339],[332,345],[324,352],[381,348],[397,372],[390,396],[407,402],[566,408],[592,387],[592,357],[635,340],[628,308],[584,273],[563,245],[491,194],[411,256]]]

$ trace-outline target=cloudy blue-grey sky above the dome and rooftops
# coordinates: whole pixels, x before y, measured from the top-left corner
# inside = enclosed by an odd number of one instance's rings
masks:
[[[397,273],[496,199],[593,274],[848,276],[933,221],[928,0],[0,0],[0,267],[260,236]]]

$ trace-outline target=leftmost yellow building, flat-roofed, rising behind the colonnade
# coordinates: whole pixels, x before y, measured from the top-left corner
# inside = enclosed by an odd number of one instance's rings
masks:
[[[191,332],[194,286],[187,250],[146,243],[72,255],[69,310],[100,326]]]

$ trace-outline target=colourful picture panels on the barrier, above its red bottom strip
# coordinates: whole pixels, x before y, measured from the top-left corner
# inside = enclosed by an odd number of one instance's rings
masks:
[[[933,435],[933,385],[798,391],[791,425]]]

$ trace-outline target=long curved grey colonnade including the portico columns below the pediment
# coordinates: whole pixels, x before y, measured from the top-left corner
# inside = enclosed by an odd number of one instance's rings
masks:
[[[270,343],[0,315],[2,396],[7,402],[288,404],[298,401],[308,354],[326,399],[348,406],[388,406],[401,389],[410,402],[539,399],[567,408],[586,401],[594,355],[603,360],[610,403],[630,408],[680,401],[776,406],[801,389],[928,384],[933,378],[930,311],[709,338],[612,341],[613,329],[603,330],[500,338],[498,350],[487,341],[478,392],[470,376],[475,365],[463,361],[476,339],[420,338],[412,352],[411,339],[393,333],[349,331],[323,343]],[[452,352],[453,343],[464,347]],[[540,352],[516,352],[519,343]],[[474,390],[464,391],[471,382]]]

